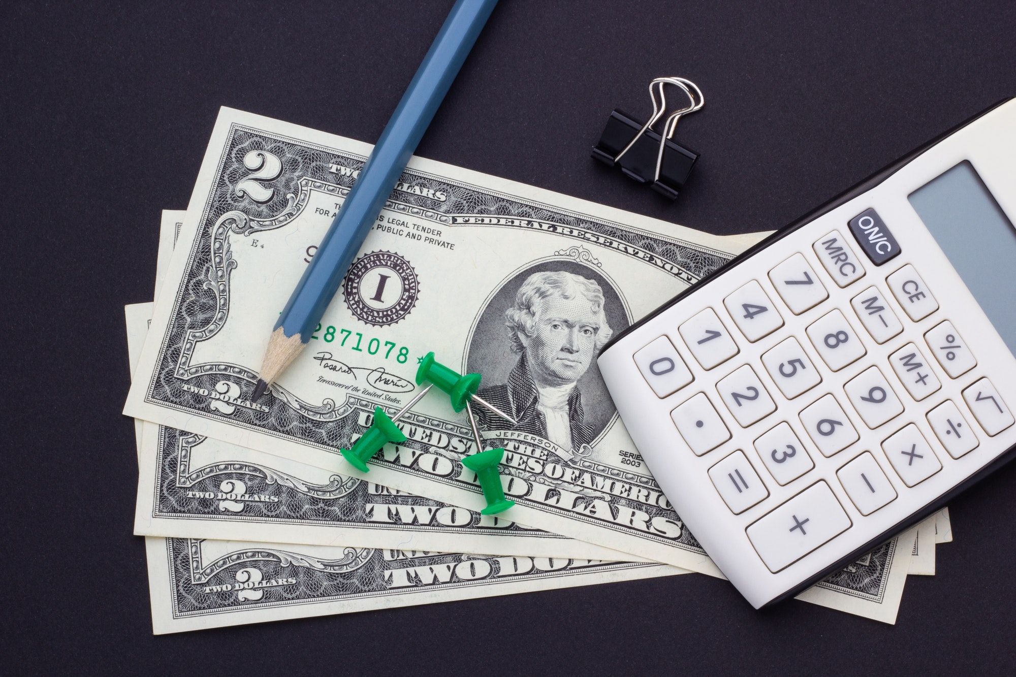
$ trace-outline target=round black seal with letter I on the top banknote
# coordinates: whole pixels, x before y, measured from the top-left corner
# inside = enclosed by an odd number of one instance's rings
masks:
[[[391,251],[372,251],[354,261],[342,284],[345,305],[367,324],[394,324],[420,297],[420,279],[407,260]]]

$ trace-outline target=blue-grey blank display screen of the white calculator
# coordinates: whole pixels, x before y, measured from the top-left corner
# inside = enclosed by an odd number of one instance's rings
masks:
[[[1016,229],[973,166],[961,162],[908,199],[1016,355]]]

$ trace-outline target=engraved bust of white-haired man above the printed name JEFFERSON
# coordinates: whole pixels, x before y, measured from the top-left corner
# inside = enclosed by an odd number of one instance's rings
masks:
[[[602,426],[585,421],[578,381],[613,333],[604,307],[594,280],[564,270],[525,279],[503,315],[517,361],[507,382],[477,393],[518,426],[474,408],[489,430],[528,432],[569,451],[592,442]]]

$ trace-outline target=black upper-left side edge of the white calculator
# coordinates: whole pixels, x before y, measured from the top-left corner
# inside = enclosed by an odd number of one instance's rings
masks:
[[[840,193],[836,197],[832,198],[831,200],[829,200],[825,204],[822,204],[821,206],[816,207],[815,209],[812,209],[811,211],[809,211],[805,216],[801,217],[797,221],[791,222],[789,225],[784,226],[783,228],[779,229],[778,231],[776,231],[775,233],[773,233],[772,235],[770,235],[766,239],[764,239],[764,240],[758,242],[757,244],[751,246],[750,248],[746,249],[744,252],[742,252],[738,256],[735,256],[729,261],[727,261],[723,265],[719,266],[718,268],[716,268],[715,270],[713,270],[712,272],[710,272],[709,274],[707,274],[705,278],[702,278],[697,283],[695,283],[694,285],[692,285],[691,287],[689,287],[685,291],[681,292],[676,297],[674,297],[673,299],[671,299],[670,301],[668,301],[666,303],[664,303],[660,307],[656,308],[655,310],[653,310],[651,313],[649,313],[648,315],[646,315],[642,319],[636,321],[634,324],[630,325],[628,328],[624,329],[623,331],[621,331],[616,336],[612,336],[611,340],[609,342],[607,342],[607,345],[604,346],[604,348],[599,352],[599,354],[602,355],[607,351],[611,350],[611,347],[613,347],[614,344],[616,344],[619,341],[621,341],[622,338],[624,338],[626,335],[628,335],[629,332],[634,331],[635,329],[637,329],[638,327],[640,327],[642,324],[648,322],[653,317],[655,317],[659,313],[665,311],[668,308],[670,308],[674,304],[678,303],[679,301],[681,301],[681,299],[685,298],[689,294],[692,294],[693,292],[698,291],[703,286],[709,284],[710,282],[712,282],[716,278],[720,276],[724,272],[729,271],[735,266],[737,266],[739,263],[742,263],[743,261],[751,258],[755,254],[759,253],[760,251],[762,251],[763,249],[765,249],[766,247],[768,247],[773,242],[776,242],[777,240],[780,240],[780,239],[786,237],[787,235],[789,235],[793,231],[798,230],[799,228],[803,228],[804,226],[807,226],[809,223],[815,221],[816,219],[818,219],[819,217],[821,217],[822,214],[824,214],[824,213],[826,213],[828,211],[832,211],[833,209],[835,209],[839,205],[844,204],[845,202],[849,202],[850,200],[852,200],[858,195],[861,195],[862,193],[868,192],[869,190],[871,190],[872,188],[874,188],[875,186],[879,185],[880,183],[882,183],[883,181],[885,181],[886,179],[888,179],[890,176],[892,176],[893,174],[895,174],[900,168],[902,168],[904,165],[906,165],[907,163],[909,163],[911,160],[913,160],[914,158],[916,158],[917,156],[919,156],[920,153],[923,153],[925,150],[928,150],[930,147],[932,147],[933,145],[935,145],[936,143],[938,143],[942,139],[944,139],[947,136],[950,136],[950,135],[956,133],[957,131],[959,131],[963,127],[965,127],[968,124],[970,124],[971,122],[973,122],[974,120],[976,120],[976,119],[978,119],[978,118],[980,118],[980,117],[982,117],[982,116],[991,113],[992,111],[994,111],[999,106],[1002,106],[1003,104],[1005,104],[1005,103],[1007,103],[1009,101],[1012,101],[1013,99],[1016,99],[1016,97],[1008,97],[1006,99],[1003,99],[1003,100],[1001,100],[1001,101],[999,101],[999,102],[997,102],[997,103],[989,106],[988,108],[986,108],[985,110],[982,110],[980,113],[977,113],[973,117],[964,120],[963,122],[959,123],[958,125],[956,125],[955,127],[953,127],[949,131],[944,132],[942,134],[939,134],[938,136],[936,136],[935,138],[933,138],[931,141],[928,141],[927,143],[924,143],[924,144],[919,145],[918,147],[916,147],[913,150],[911,150],[910,152],[906,153],[905,156],[903,156],[899,160],[897,160],[897,161],[895,161],[895,162],[887,165],[886,167],[882,168],[881,170],[879,170],[875,174],[872,174],[871,176],[869,176],[867,179],[865,179],[861,183],[854,185],[851,188],[846,189],[845,191],[843,191],[842,193]]]

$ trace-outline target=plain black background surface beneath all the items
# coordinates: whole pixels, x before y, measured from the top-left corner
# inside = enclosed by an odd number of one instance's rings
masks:
[[[219,106],[377,139],[451,6],[0,3],[4,669],[148,674],[1009,672],[1016,466],[895,626],[702,575],[153,637],[123,306],[150,300]],[[419,155],[717,234],[778,228],[1003,97],[1011,2],[503,0]],[[594,163],[658,75],[706,107],[677,203]],[[1011,274],[1011,272],[1009,272]]]

